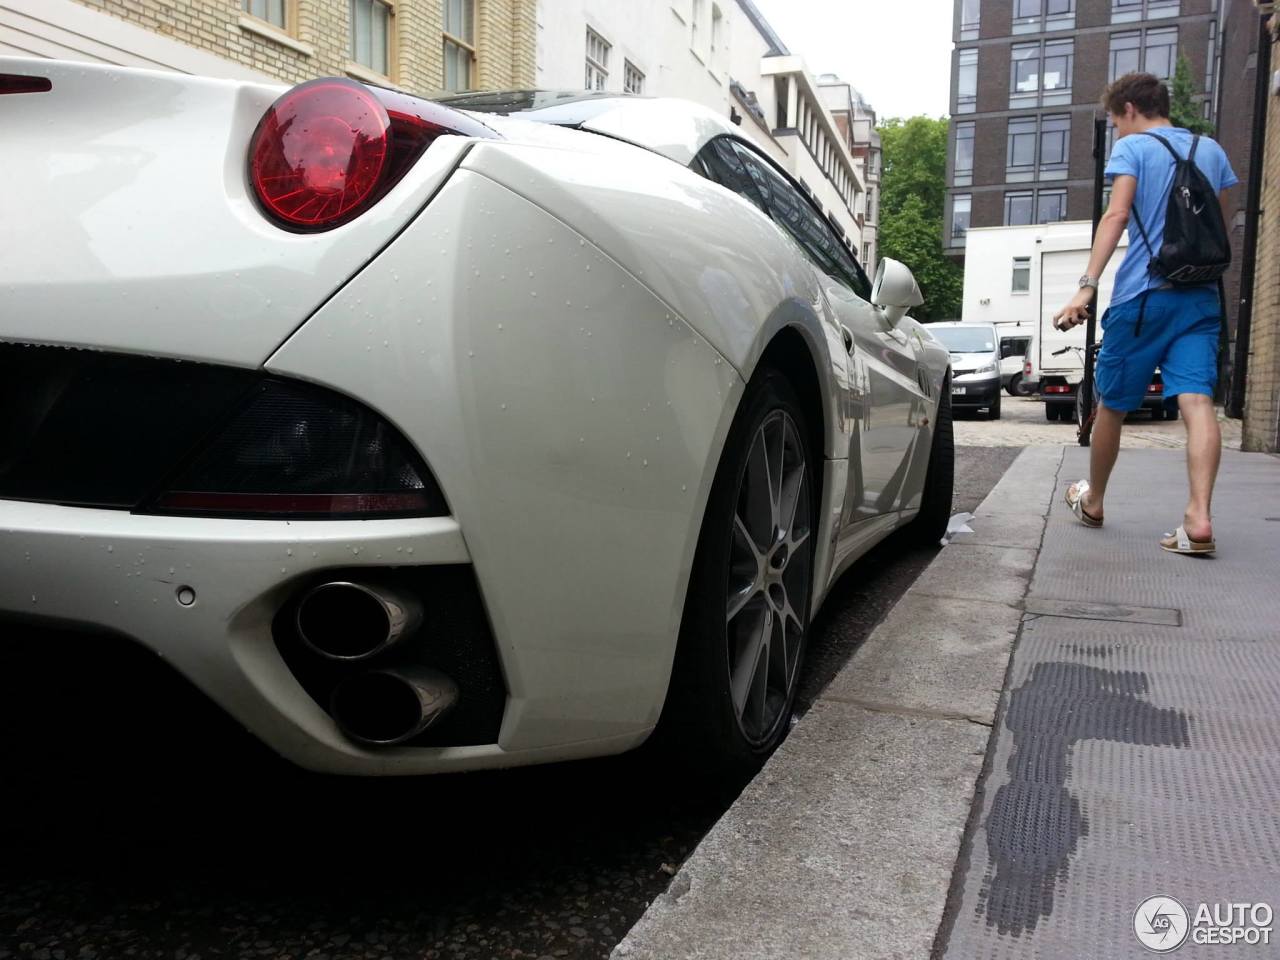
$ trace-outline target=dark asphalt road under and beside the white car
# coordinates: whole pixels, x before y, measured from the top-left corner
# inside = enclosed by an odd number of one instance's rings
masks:
[[[973,509],[1016,448],[957,449]],[[933,550],[878,547],[814,625],[805,709]],[[657,758],[306,774],[154,658],[0,644],[0,960],[607,956],[724,809]]]

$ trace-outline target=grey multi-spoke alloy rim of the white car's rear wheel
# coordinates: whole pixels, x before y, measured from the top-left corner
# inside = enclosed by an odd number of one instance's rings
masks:
[[[809,476],[795,420],[760,424],[739,481],[724,604],[730,694],[758,746],[791,703],[806,628],[812,568]]]

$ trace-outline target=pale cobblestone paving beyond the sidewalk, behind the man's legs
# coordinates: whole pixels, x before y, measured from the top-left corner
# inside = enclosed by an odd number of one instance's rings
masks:
[[[1219,415],[1222,426],[1222,445],[1240,449],[1240,421]],[[1001,399],[1000,420],[987,420],[986,412],[956,412],[956,444],[963,447],[1056,447],[1075,444],[1075,424],[1052,422],[1044,419],[1044,404],[1032,397]],[[1132,413],[1120,434],[1121,448],[1174,448],[1187,445],[1183,421],[1153,422],[1146,412]]]

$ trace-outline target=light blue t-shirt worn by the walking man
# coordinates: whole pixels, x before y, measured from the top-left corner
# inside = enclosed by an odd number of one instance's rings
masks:
[[[1178,156],[1187,156],[1192,148],[1193,134],[1183,127],[1156,127],[1152,133],[1164,137],[1178,151]],[[1201,137],[1196,147],[1196,166],[1204,174],[1215,193],[1239,183],[1222,147],[1208,137]],[[1160,250],[1161,238],[1165,236],[1165,207],[1169,205],[1169,189],[1174,186],[1174,157],[1152,137],[1132,133],[1115,142],[1106,174],[1107,178],[1121,174],[1138,178],[1134,206],[1138,207],[1142,225],[1147,228],[1147,237],[1155,247],[1155,250],[1147,248],[1142,230],[1138,229],[1138,220],[1130,212],[1129,250],[1116,273],[1116,284],[1111,294],[1112,303],[1123,303],[1146,289],[1165,283],[1161,276],[1147,269],[1147,264],[1151,262],[1155,251]]]

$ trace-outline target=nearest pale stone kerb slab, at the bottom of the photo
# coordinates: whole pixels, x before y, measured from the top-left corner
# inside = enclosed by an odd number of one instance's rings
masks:
[[[820,700],[613,956],[927,956],[987,739]]]

